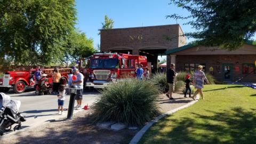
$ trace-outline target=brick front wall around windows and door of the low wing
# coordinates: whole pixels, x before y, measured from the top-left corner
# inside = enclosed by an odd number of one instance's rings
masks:
[[[209,73],[209,68],[213,67],[213,76],[222,81],[222,64],[229,63],[233,65],[233,79],[236,81],[240,77],[246,76],[242,74],[243,63],[254,63],[256,54],[247,55],[177,55],[176,57],[176,70],[184,71],[185,63],[205,63],[206,73]],[[219,64],[217,63],[219,62]],[[238,62],[238,63],[237,63]],[[235,67],[239,68],[239,71],[235,71]],[[256,75],[250,74],[243,78],[243,82],[256,82]]]

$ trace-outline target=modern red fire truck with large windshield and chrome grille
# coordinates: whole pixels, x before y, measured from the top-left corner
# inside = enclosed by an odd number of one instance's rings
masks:
[[[79,71],[85,75],[86,86],[106,87],[111,82],[135,77],[138,65],[147,67],[147,57],[123,53],[94,53],[80,59]]]

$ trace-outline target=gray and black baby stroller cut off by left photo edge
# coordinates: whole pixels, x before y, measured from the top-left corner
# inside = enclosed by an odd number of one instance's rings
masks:
[[[14,126],[13,130],[21,129],[21,122],[25,122],[26,119],[18,113],[20,108],[19,100],[11,100],[9,95],[0,93],[0,135],[2,136],[4,132],[10,131],[13,124],[18,124]]]

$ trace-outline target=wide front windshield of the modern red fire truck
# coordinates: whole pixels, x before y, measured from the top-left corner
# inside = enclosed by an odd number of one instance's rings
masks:
[[[118,59],[91,59],[90,68],[119,68]]]

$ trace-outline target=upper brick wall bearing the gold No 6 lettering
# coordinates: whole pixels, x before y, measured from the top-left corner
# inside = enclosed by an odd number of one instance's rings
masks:
[[[165,25],[101,30],[101,51],[118,48],[119,50],[139,50],[145,47],[173,49],[179,46],[179,33],[182,33],[179,29],[179,25]],[[170,41],[166,37],[170,38]]]

